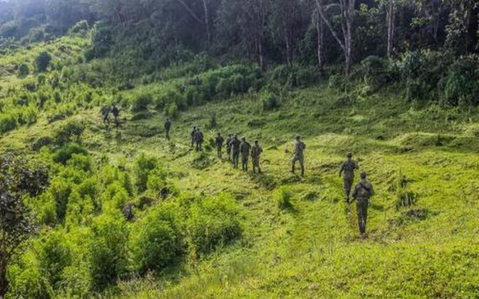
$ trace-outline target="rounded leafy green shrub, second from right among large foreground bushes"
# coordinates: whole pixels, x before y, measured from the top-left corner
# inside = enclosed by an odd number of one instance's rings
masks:
[[[145,273],[169,265],[181,250],[177,207],[160,205],[134,225],[129,239],[131,269]]]

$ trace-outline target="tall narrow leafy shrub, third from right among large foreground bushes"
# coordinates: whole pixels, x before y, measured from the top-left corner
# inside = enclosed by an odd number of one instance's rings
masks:
[[[101,290],[127,273],[129,228],[118,211],[93,221],[89,243],[89,270],[96,289]]]

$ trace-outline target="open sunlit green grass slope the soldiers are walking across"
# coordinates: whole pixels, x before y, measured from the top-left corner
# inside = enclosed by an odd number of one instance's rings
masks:
[[[163,85],[127,94],[156,93]],[[97,294],[102,298],[475,298],[477,111],[417,109],[398,87],[370,94],[357,86],[347,97],[326,84],[284,91],[270,112],[262,111],[258,93],[191,107],[173,120],[171,142],[163,138],[164,113],[152,107],[134,121],[134,113],[122,111],[119,129],[101,123],[98,107],[52,124],[42,113],[35,124],[0,136],[0,150],[31,154],[32,142],[81,120],[83,145],[94,157],[131,166],[140,153],[154,155],[181,194],[226,192],[240,205],[241,239],[160,274],[121,281]],[[218,126],[208,129],[213,112]],[[215,151],[193,153],[193,125],[206,144],[217,131],[258,139],[263,174],[234,170]],[[307,144],[304,178],[288,173],[296,134]],[[346,206],[338,177],[348,151],[376,190],[367,239],[359,238],[355,207]],[[416,201],[398,209],[400,175]],[[288,208],[278,205],[283,189]]]

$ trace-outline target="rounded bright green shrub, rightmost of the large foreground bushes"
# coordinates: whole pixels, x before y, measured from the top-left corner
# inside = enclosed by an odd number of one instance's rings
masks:
[[[187,231],[189,245],[196,254],[208,254],[231,243],[242,234],[235,201],[227,195],[198,200],[190,208]]]

